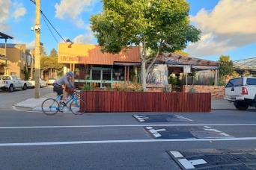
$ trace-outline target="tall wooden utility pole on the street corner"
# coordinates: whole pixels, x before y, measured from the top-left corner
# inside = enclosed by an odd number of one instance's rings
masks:
[[[36,19],[35,19],[35,25],[34,25],[34,33],[35,33],[34,98],[40,98],[40,0],[36,0]]]

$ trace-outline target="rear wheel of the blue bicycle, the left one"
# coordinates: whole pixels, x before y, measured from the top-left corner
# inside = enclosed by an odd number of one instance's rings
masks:
[[[55,115],[59,109],[60,109],[60,104],[58,104],[58,101],[55,101],[55,99],[48,98],[45,101],[43,101],[42,110],[43,110],[43,113],[46,113],[46,115],[49,115],[49,116]]]

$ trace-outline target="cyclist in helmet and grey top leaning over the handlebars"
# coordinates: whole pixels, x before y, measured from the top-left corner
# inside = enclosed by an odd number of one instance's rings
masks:
[[[73,85],[72,83],[72,78],[73,78],[74,74],[73,72],[67,72],[66,75],[62,76],[61,78],[58,79],[58,81],[53,84],[53,91],[57,92],[58,95],[62,95],[63,97],[61,98],[61,104],[63,104],[64,106],[66,106],[65,104],[65,98],[67,97],[67,93],[66,90],[63,88],[63,84],[66,84],[68,89],[71,89],[72,91],[76,91],[76,87]]]

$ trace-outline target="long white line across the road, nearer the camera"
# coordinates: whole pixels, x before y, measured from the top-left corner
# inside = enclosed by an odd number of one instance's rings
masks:
[[[242,137],[230,139],[210,139],[211,141],[237,141],[256,140],[256,137]],[[1,146],[31,146],[31,145],[73,145],[73,144],[105,144],[105,143],[132,143],[132,142],[198,142],[209,139],[134,139],[134,140],[96,140],[96,141],[71,141],[71,142],[27,142],[27,143],[0,143]]]

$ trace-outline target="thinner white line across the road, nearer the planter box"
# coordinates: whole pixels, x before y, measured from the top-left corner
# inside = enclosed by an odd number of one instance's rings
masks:
[[[19,128],[69,128],[69,127],[144,127],[144,126],[256,126],[256,124],[219,124],[219,125],[80,125],[80,126],[1,126],[0,129]]]

